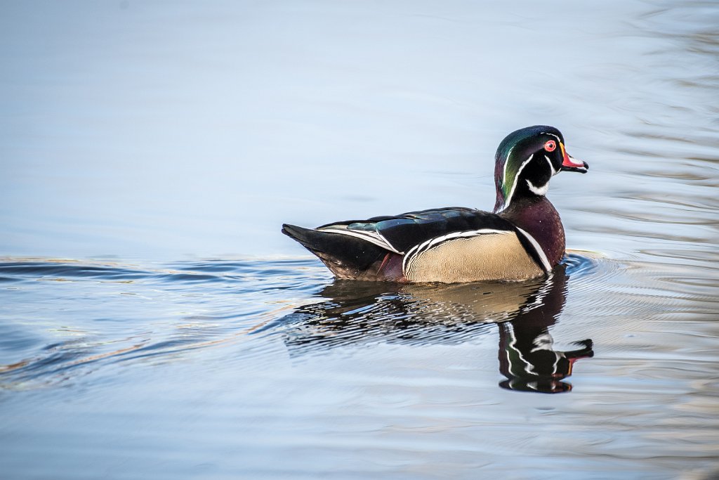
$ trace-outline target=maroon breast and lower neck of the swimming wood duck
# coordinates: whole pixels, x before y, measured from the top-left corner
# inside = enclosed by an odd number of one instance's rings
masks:
[[[512,204],[500,213],[539,243],[551,266],[564,257],[564,226],[559,213],[546,196],[527,196],[513,199]]]

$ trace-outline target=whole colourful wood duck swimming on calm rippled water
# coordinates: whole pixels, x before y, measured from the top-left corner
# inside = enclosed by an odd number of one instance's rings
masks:
[[[551,275],[564,258],[562,219],[546,198],[559,172],[587,173],[557,128],[507,135],[495,154],[493,212],[444,207],[346,220],[282,232],[338,279],[395,283],[526,281]]]

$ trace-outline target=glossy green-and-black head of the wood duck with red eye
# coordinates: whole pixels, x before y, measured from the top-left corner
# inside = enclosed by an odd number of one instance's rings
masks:
[[[587,162],[567,153],[562,132],[547,125],[507,135],[499,144],[495,162],[495,213],[522,197],[544,196],[549,180],[560,171],[587,173],[589,169]]]

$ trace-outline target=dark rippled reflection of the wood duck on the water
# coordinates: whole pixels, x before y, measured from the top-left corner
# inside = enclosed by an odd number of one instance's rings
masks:
[[[567,278],[559,265],[548,279],[508,284],[336,280],[319,294],[326,301],[299,307],[278,323],[293,356],[362,343],[459,344],[497,324],[500,372],[507,377],[500,386],[559,393],[572,389],[562,379],[574,362],[594,354],[592,340],[576,342],[577,350],[553,349],[549,327],[564,308]]]

